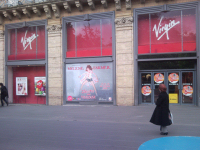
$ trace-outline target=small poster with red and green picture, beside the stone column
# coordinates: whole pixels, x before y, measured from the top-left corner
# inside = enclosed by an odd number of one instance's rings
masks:
[[[35,77],[35,95],[46,96],[46,77]]]

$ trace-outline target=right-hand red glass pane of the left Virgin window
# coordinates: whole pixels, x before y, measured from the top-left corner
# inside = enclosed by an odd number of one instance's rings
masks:
[[[37,59],[45,59],[45,26],[37,27]]]

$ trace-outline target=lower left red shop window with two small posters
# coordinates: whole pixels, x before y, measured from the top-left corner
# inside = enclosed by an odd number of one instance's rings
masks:
[[[11,75],[12,74],[12,75]],[[46,104],[45,66],[13,67],[13,103]]]

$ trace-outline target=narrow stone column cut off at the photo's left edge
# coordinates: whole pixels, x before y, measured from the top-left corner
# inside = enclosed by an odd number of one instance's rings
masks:
[[[4,31],[0,30],[0,83],[5,83]]]

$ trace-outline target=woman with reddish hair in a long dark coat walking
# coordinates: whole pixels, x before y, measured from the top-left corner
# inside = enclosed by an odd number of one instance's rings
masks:
[[[164,84],[160,84],[158,88],[160,94],[150,122],[155,125],[160,125],[160,134],[167,135],[167,126],[171,125],[171,121],[169,120],[169,96],[166,93],[167,88]]]

